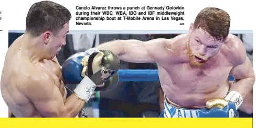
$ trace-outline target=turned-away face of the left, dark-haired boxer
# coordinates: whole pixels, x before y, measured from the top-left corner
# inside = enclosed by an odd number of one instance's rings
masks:
[[[61,46],[66,45],[66,35],[69,32],[69,23],[66,23],[57,34],[50,33],[48,36],[48,56],[55,57],[61,49]]]

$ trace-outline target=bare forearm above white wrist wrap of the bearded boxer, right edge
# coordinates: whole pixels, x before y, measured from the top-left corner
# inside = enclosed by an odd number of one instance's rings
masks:
[[[255,76],[251,76],[241,80],[234,80],[230,91],[238,91],[244,99],[253,88],[255,82]]]

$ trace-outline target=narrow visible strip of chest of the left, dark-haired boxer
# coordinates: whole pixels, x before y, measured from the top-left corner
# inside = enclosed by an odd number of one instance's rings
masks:
[[[51,74],[52,79],[54,79],[55,86],[59,88],[63,96],[63,99],[65,99],[66,89],[62,82],[62,73],[61,73],[60,65],[53,60],[45,59],[43,63],[41,63],[41,66],[44,67]]]

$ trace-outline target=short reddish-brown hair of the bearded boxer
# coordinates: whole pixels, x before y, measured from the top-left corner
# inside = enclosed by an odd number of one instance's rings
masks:
[[[230,16],[225,10],[206,7],[197,15],[194,29],[201,28],[217,40],[226,39],[229,34]]]

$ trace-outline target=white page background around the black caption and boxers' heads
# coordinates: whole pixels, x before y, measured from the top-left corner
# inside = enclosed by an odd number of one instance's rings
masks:
[[[1,39],[1,55],[0,55],[0,74],[2,74],[2,68],[4,64],[5,54],[8,48],[8,30],[25,30],[26,14],[32,4],[38,1],[6,1],[0,4],[0,11],[2,11],[2,20],[0,20],[0,39]],[[185,30],[187,31],[191,22],[194,21],[196,15],[201,9],[211,6],[218,7],[226,10],[231,17],[230,30],[255,30],[255,6],[250,0],[243,1],[54,1],[65,7],[67,7],[71,14],[70,30]],[[116,20],[116,21],[93,21],[92,26],[76,26],[75,13],[76,6],[184,6],[185,7],[185,21],[129,21]],[[178,23],[185,23],[184,26],[179,26]],[[168,32],[168,31],[166,31]],[[125,32],[124,32],[125,33]],[[253,33],[255,37],[255,33]],[[253,40],[253,42],[255,42]],[[253,43],[254,44],[254,43]],[[253,46],[254,47],[254,46]],[[255,57],[255,55],[253,55]],[[253,59],[255,60],[255,59]],[[255,63],[255,62],[254,62]],[[253,63],[253,65],[254,65]],[[255,70],[255,66],[254,70]],[[253,94],[255,96],[255,94]],[[1,95],[2,96],[2,95]],[[7,106],[0,99],[0,117],[7,117]],[[255,107],[253,107],[255,108]],[[255,111],[255,109],[253,110]]]

